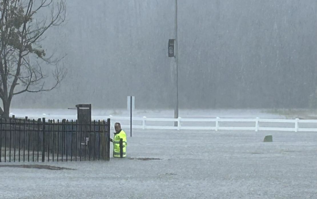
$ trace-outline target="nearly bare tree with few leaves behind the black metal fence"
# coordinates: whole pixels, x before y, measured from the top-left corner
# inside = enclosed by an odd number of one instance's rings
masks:
[[[1,117],[9,117],[14,95],[50,91],[64,78],[62,58],[48,57],[41,42],[48,29],[65,21],[65,13],[64,0],[0,0]],[[54,67],[51,75],[47,65]],[[48,77],[55,79],[53,85],[45,84]]]

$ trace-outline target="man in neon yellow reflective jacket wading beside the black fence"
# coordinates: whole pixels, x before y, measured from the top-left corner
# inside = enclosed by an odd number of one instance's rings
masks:
[[[113,142],[113,157],[126,157],[126,133],[121,129],[120,123],[114,124],[114,130],[116,131],[114,137],[110,138],[110,142]],[[122,147],[120,147],[120,139],[122,139]]]

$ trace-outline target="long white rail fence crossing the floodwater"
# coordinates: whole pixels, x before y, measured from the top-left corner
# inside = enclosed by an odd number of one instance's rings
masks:
[[[123,128],[130,128],[130,117],[113,117],[111,119],[112,126],[114,122],[127,121],[129,125],[122,124]],[[147,125],[147,122],[157,122],[155,125]],[[166,122],[163,125],[158,125],[159,122]],[[178,122],[174,126],[173,122]],[[191,123],[200,123],[196,125],[186,125]],[[210,122],[210,123],[208,123]],[[231,122],[231,123],[230,123]],[[232,123],[239,123],[235,126]],[[126,122],[125,122],[126,123]],[[136,124],[137,125],[134,125]],[[206,124],[207,123],[207,124]],[[226,123],[225,125],[222,125]],[[248,126],[240,126],[243,123],[249,123]],[[275,127],[280,123],[279,127]],[[293,123],[293,127],[281,127],[285,123]],[[309,128],[301,127],[301,123],[310,123]],[[250,125],[251,124],[251,125]],[[314,128],[311,128],[314,127]],[[260,119],[260,118],[146,118],[133,117],[133,129],[174,129],[174,130],[253,130],[253,131],[293,131],[293,132],[317,132],[317,119]]]

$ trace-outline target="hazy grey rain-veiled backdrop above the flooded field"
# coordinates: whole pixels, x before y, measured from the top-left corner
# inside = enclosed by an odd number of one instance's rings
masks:
[[[180,108],[305,108],[314,104],[315,0],[179,0]],[[58,89],[12,107],[172,108],[173,0],[67,1],[67,22],[43,43],[68,74]],[[119,90],[119,93],[116,91]]]

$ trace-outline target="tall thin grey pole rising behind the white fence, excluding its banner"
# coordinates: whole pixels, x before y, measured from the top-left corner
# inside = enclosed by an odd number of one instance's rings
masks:
[[[175,0],[175,43],[174,43],[174,48],[175,48],[175,76],[176,76],[176,81],[175,81],[175,86],[176,86],[176,102],[175,102],[175,108],[174,108],[174,118],[178,118],[178,27],[177,27],[177,0]],[[177,122],[174,123],[174,126],[177,126]]]

